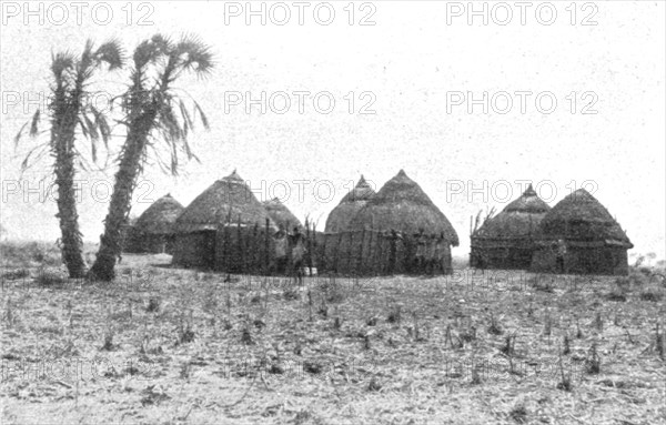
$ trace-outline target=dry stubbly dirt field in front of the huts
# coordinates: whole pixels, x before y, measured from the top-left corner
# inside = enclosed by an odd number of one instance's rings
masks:
[[[8,257],[3,424],[666,423],[654,271],[295,287],[125,255],[101,285]]]

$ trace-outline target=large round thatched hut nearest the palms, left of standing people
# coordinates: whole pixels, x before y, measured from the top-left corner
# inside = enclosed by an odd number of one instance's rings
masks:
[[[173,263],[226,272],[268,269],[276,225],[235,172],[192,201],[175,222]]]

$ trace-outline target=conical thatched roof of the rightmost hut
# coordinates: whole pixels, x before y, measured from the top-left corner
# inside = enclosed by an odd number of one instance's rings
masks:
[[[585,189],[578,189],[553,206],[544,216],[541,230],[544,239],[634,246],[608,210]]]

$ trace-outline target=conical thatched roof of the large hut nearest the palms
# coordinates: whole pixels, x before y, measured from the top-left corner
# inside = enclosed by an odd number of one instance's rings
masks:
[[[231,213],[231,214],[230,214]],[[216,230],[231,219],[230,224],[236,225],[269,225],[275,229],[266,209],[254,196],[254,193],[235,172],[218,180],[183,211],[176,220],[178,232],[195,232]]]

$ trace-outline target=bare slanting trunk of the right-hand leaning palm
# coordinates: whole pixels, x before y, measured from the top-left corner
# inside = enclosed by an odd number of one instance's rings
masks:
[[[120,156],[120,166],[115,173],[115,183],[109,213],[104,219],[104,233],[100,236],[100,249],[94,264],[90,269],[90,277],[112,281],[115,277],[115,260],[122,251],[122,225],[130,213],[132,193],[141,172],[145,145],[150,129],[154,122],[154,113],[148,113],[128,129],[128,138]]]

